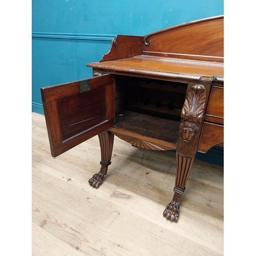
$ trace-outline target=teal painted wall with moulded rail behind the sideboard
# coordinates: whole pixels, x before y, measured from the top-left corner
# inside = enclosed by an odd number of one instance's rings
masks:
[[[224,0],[32,0],[32,112],[40,88],[92,76],[118,34],[149,33],[224,14]]]

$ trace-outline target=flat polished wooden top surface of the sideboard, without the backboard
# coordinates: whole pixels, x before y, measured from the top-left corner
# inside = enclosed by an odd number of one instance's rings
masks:
[[[196,80],[201,76],[216,76],[218,81],[224,80],[224,63],[214,61],[139,55],[113,61],[92,62],[88,67],[110,73],[124,72]]]

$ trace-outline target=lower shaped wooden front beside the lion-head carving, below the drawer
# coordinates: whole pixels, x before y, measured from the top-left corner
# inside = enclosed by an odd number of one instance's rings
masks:
[[[214,123],[203,123],[203,129],[198,145],[198,151],[206,153],[212,146],[223,146],[224,141],[224,126]]]

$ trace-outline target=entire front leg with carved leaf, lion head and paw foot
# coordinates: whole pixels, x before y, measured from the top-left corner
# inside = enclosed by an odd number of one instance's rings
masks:
[[[202,84],[195,84],[190,88],[182,108],[176,151],[177,164],[174,197],[163,211],[163,216],[172,222],[177,222],[179,219],[181,198],[197,153],[205,101],[205,87]]]

